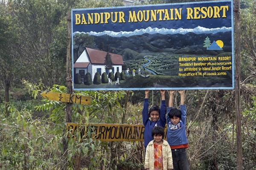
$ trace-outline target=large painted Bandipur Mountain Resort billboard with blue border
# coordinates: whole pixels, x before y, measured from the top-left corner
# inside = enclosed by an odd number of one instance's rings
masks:
[[[233,89],[233,1],[72,9],[75,90]]]

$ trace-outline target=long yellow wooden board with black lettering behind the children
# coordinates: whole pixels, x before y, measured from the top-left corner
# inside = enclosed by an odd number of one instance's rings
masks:
[[[81,139],[92,138],[100,141],[144,141],[144,125],[128,124],[80,124],[67,123],[69,139],[76,139],[79,135]],[[166,139],[165,127],[165,139]]]

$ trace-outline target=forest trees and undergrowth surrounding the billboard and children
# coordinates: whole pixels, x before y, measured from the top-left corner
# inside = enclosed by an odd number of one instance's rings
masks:
[[[192,0],[149,0],[144,4],[180,2]],[[0,0],[0,170],[143,169],[141,142],[87,139],[67,143],[66,103],[39,96],[44,91],[67,92],[67,12],[123,5],[120,0]],[[256,1],[241,0],[240,12],[243,168],[254,170]],[[91,96],[92,102],[73,105],[72,122],[142,124],[144,91],[74,93]],[[190,169],[236,169],[234,90],[188,90],[185,99]],[[151,91],[150,104],[160,105],[159,91]]]

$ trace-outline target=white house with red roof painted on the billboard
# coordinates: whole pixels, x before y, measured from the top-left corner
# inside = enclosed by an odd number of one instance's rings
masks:
[[[93,79],[96,72],[99,72],[100,75],[102,75],[104,72],[107,74],[109,74],[109,72],[116,74],[116,72],[119,71],[121,73],[122,65],[124,64],[122,56],[113,53],[109,54],[111,55],[111,60],[113,62],[112,70],[105,69],[106,65],[104,62],[107,55],[106,51],[100,51],[86,47],[74,63],[74,74],[79,73],[81,78],[83,78],[84,75],[89,72]]]

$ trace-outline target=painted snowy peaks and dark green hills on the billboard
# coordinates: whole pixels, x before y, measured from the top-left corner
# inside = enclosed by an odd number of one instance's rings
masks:
[[[151,30],[151,31],[148,31]],[[150,34],[149,34],[150,33]],[[224,87],[232,85],[232,72],[227,75],[207,77],[179,77],[180,57],[218,57],[232,56],[232,33],[230,28],[204,29],[198,26],[195,29],[152,29],[143,31],[116,33],[105,31],[102,33],[78,33],[89,34],[95,40],[95,48],[122,56],[124,65],[122,71],[127,68],[136,70],[135,77],[125,77],[125,83],[120,85],[97,85],[98,88],[193,88],[193,87]],[[138,35],[136,35],[138,34]],[[221,40],[224,43],[222,50],[207,50],[204,47],[206,38],[211,42]],[[150,63],[148,63],[150,61]],[[148,64],[147,64],[148,63]],[[145,79],[138,75],[138,69],[150,74]],[[141,71],[141,72],[142,72]],[[212,83],[218,79],[218,83]],[[203,81],[202,81],[203,80]],[[228,81],[227,81],[228,80]],[[129,83],[128,83],[128,82]],[[80,85],[81,86],[81,85]],[[79,86],[79,87],[80,87]],[[92,85],[93,86],[93,85]]]

